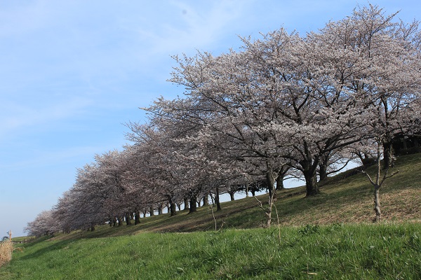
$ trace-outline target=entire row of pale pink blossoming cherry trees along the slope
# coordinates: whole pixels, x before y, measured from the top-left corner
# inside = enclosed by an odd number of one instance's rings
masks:
[[[253,186],[268,190],[269,226],[286,176],[312,196],[356,155],[388,169],[394,135],[420,127],[418,22],[395,18],[370,5],[305,36],[279,29],[241,38],[238,51],[175,56],[171,82],[184,96],[145,108],[146,124],[128,123],[133,145],[96,155],[28,231],[138,223],[150,207],[194,211],[198,198]]]

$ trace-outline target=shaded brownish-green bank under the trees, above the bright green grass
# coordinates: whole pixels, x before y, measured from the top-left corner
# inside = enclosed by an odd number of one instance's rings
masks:
[[[401,156],[396,160],[399,174],[387,179],[380,189],[383,221],[420,221],[421,218],[421,154]],[[374,167],[368,169],[374,173]],[[74,232],[74,237],[109,237],[133,235],[139,232],[193,232],[216,228],[260,228],[265,223],[265,213],[256,198],[265,204],[267,195],[246,197],[234,202],[222,203],[222,211],[210,207],[199,207],[188,214],[180,211],[142,218],[140,225],[121,225],[109,228],[97,227],[95,232]],[[370,223],[373,211],[373,186],[365,175],[354,169],[328,178],[321,186],[321,194],[305,197],[305,188],[285,189],[278,192],[276,202],[279,223],[285,225],[326,225],[332,223]],[[213,218],[215,216],[215,219]],[[277,224],[276,211],[272,225]]]

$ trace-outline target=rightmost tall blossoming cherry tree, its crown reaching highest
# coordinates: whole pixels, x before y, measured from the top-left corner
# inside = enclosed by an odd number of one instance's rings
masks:
[[[347,64],[354,68],[345,77],[348,89],[364,99],[366,107],[381,112],[375,113],[373,121],[382,127],[385,169],[393,160],[392,138],[408,129],[410,104],[420,99],[419,23],[394,22],[396,14],[386,15],[382,8],[369,5],[322,30],[330,38],[330,48],[342,46],[354,57]]]

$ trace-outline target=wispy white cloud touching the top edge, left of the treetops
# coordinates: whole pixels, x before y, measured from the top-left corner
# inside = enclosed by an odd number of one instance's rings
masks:
[[[197,3],[169,1],[166,6],[169,19],[149,15],[147,20],[152,20],[152,29],[151,25],[131,25],[136,26],[139,41],[147,45],[145,55],[168,56],[209,48],[235,25],[250,1],[208,1],[205,7]]]

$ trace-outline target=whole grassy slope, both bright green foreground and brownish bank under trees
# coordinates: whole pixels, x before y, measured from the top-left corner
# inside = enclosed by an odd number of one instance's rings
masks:
[[[340,174],[316,197],[304,198],[303,188],[279,194],[281,239],[276,227],[226,230],[265,223],[249,197],[222,204],[215,219],[225,230],[218,232],[194,232],[215,230],[212,211],[201,207],[194,214],[144,218],[140,225],[44,237],[15,251],[0,279],[417,279],[421,155],[399,158],[396,169],[401,172],[380,190],[380,225],[366,223],[374,216],[368,180]]]

